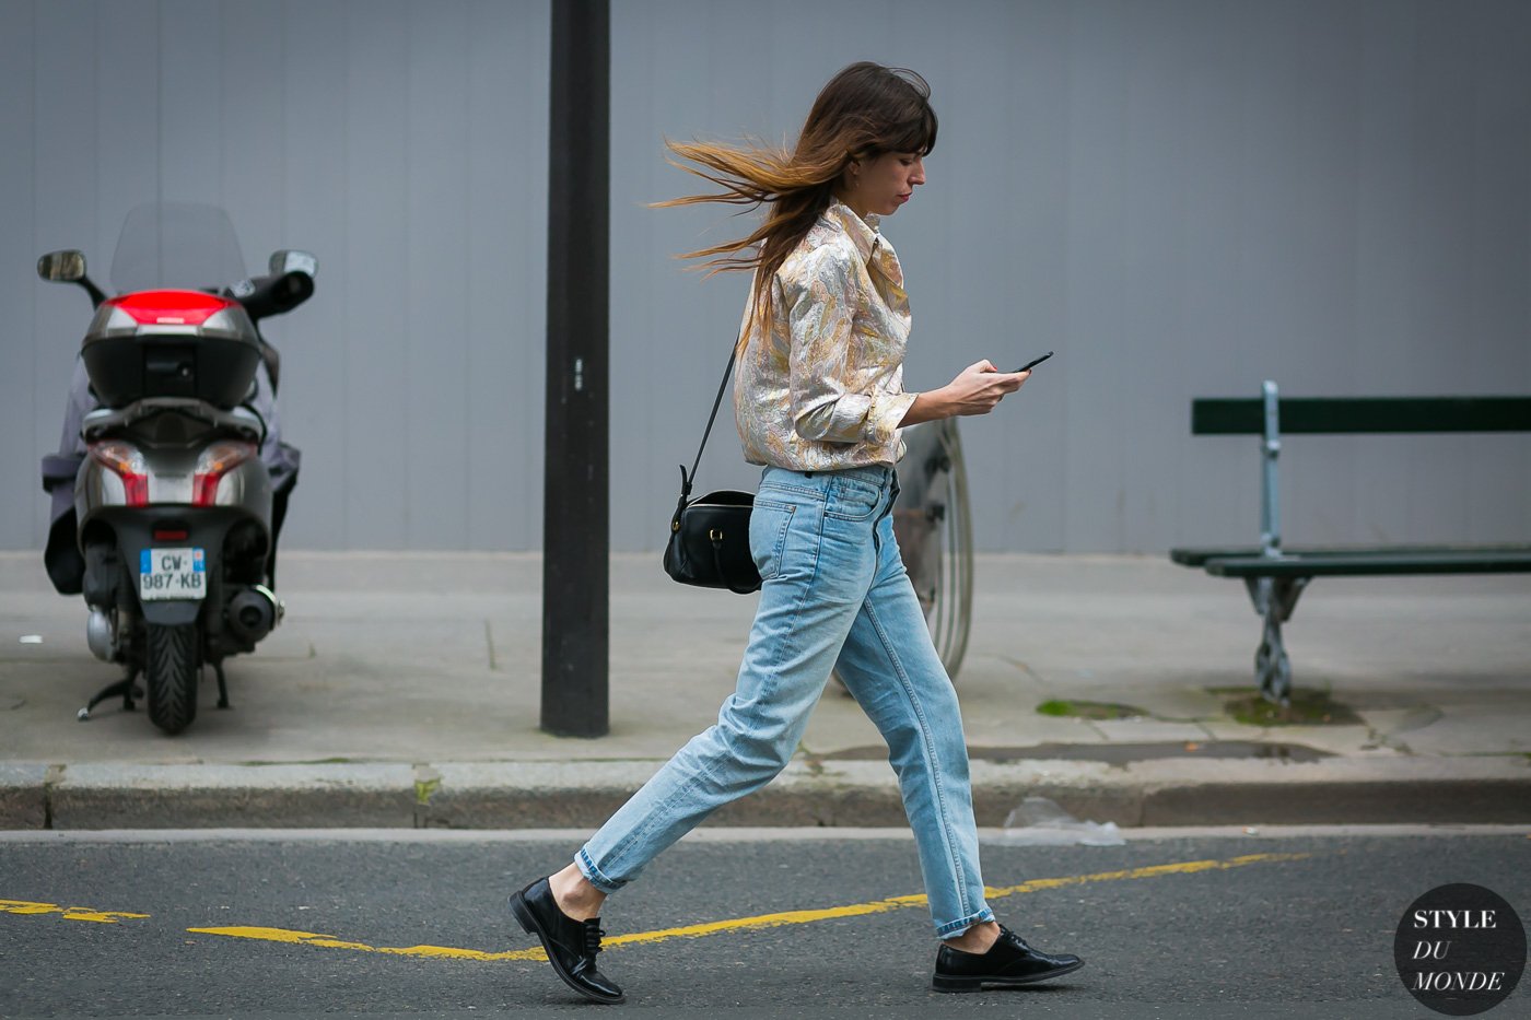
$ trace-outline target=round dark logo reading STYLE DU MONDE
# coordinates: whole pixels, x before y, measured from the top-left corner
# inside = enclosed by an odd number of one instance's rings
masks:
[[[1404,911],[1393,960],[1422,1006],[1470,1017],[1516,989],[1526,965],[1526,931],[1497,893],[1465,882],[1441,885]]]

